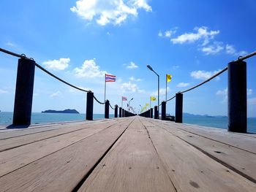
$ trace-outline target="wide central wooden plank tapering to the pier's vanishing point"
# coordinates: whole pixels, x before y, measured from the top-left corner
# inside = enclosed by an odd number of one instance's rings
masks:
[[[176,191],[139,119],[112,147],[79,191]]]

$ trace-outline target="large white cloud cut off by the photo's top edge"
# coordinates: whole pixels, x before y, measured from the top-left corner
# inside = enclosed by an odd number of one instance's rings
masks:
[[[108,23],[120,25],[129,16],[137,17],[138,9],[152,10],[147,0],[79,0],[71,11],[84,20],[96,20],[100,26],[105,26]]]

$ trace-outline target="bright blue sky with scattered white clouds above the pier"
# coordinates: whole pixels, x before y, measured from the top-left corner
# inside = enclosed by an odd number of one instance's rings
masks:
[[[256,50],[255,0],[1,0],[0,47],[34,58],[53,74],[121,106],[127,96],[136,112],[197,85],[240,55]],[[248,117],[256,117],[256,57],[247,64]],[[12,112],[18,58],[0,53],[0,110]],[[151,106],[157,104],[152,101]],[[127,102],[124,101],[124,106]],[[32,112],[86,112],[86,93],[36,69]],[[174,114],[175,99],[167,102]],[[227,72],[184,93],[184,112],[227,115]],[[104,106],[94,102],[94,113]],[[113,110],[110,111],[113,113]]]

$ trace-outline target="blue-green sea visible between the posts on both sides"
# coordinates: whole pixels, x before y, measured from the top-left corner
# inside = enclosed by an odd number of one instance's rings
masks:
[[[12,124],[12,112],[0,112],[0,125],[9,126]],[[94,114],[94,119],[102,119],[104,114]],[[110,115],[114,118],[114,115]],[[64,121],[85,120],[85,114],[67,114],[67,113],[42,113],[32,112],[31,124],[54,123]],[[198,126],[224,128],[227,129],[227,117],[183,117],[183,123]],[[247,132],[256,134],[256,118],[247,119]]]

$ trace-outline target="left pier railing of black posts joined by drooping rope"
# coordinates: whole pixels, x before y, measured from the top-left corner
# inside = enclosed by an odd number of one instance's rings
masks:
[[[104,102],[99,101],[94,93],[90,90],[85,90],[83,88],[79,88],[78,86],[72,85],[71,83],[62,80],[57,77],[55,74],[49,72],[47,69],[43,68],[39,64],[37,64],[33,58],[28,58],[24,54],[13,53],[9,50],[4,50],[0,48],[0,52],[6,53],[8,55],[12,55],[18,57],[18,72],[17,72],[17,80],[16,80],[16,88],[15,88],[15,104],[13,111],[13,119],[12,124],[16,125],[30,125],[31,124],[31,110],[32,110],[32,100],[33,100],[33,90],[34,90],[34,72],[35,66],[38,69],[41,69],[46,74],[49,74],[51,77],[54,77],[56,80],[63,82],[66,85],[69,85],[72,88],[77,89],[78,91],[83,91],[87,93],[86,99],[86,120],[93,120],[94,114],[94,100],[99,104],[105,105],[105,118],[110,118],[109,115],[109,107],[114,110],[114,117],[118,118],[118,109],[119,109],[119,118],[133,116],[135,114],[128,112],[127,110],[118,107],[115,105],[113,108],[110,104],[110,101],[106,100]]]

